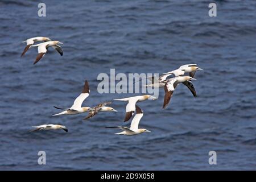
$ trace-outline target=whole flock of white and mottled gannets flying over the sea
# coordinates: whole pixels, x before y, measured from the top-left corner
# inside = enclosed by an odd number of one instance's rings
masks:
[[[39,60],[42,59],[42,57],[46,54],[49,47],[54,48],[57,52],[60,53],[61,56],[63,56],[63,50],[58,44],[63,44],[56,40],[51,40],[47,37],[38,36],[35,38],[30,38],[24,41],[23,43],[27,44],[27,46],[24,48],[24,51],[20,56],[24,56],[24,54],[30,49],[31,47],[38,47],[38,55],[36,56],[36,59],[34,61],[34,64],[38,63]],[[36,42],[43,42],[34,45]],[[192,84],[192,80],[196,80],[195,73],[197,71],[201,71],[203,69],[197,67],[197,64],[185,64],[181,65],[178,69],[175,69],[174,71],[162,73],[159,77],[152,76],[147,77],[148,80],[150,80],[151,84],[144,85],[147,87],[156,87],[156,88],[164,88],[164,101],[163,101],[163,109],[166,109],[168,104],[170,103],[171,97],[174,93],[174,90],[176,89],[176,86],[182,83],[183,85],[187,86],[187,88],[191,91],[194,97],[197,97],[195,87]],[[185,74],[188,74],[187,76]],[[113,107],[108,107],[106,105],[112,104],[112,102],[103,102],[101,104],[98,104],[94,107],[82,107],[82,103],[84,100],[89,97],[90,89],[89,89],[89,83],[87,80],[85,80],[84,87],[82,88],[82,92],[80,95],[75,99],[73,102],[73,105],[69,108],[63,108],[63,107],[57,107],[54,106],[56,109],[62,110],[60,113],[53,114],[52,116],[57,115],[75,115],[75,114],[82,114],[88,112],[88,115],[84,118],[84,120],[94,117],[99,112],[117,112]],[[134,97],[127,97],[127,98],[118,98],[114,99],[114,101],[125,101],[127,102],[126,105],[126,114],[124,122],[127,122],[130,120],[131,117],[133,117],[134,113],[136,113],[131,121],[130,127],[126,126],[107,126],[106,128],[115,128],[115,129],[121,129],[123,130],[120,133],[115,133],[117,135],[137,135],[141,133],[151,132],[147,129],[139,129],[139,121],[141,121],[141,118],[143,117],[143,111],[142,109],[137,105],[138,102],[146,101],[146,100],[156,100],[157,98],[150,95],[143,95],[143,96],[134,96]],[[39,126],[32,126],[35,129],[32,131],[39,131],[39,130],[64,130],[68,132],[67,127],[63,125],[53,125],[53,124],[47,124],[47,125],[39,125]]]

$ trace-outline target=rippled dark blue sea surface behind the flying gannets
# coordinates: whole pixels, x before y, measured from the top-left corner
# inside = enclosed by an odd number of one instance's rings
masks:
[[[238,170],[256,169],[256,1],[0,1],[0,169],[2,170]],[[217,4],[217,17],[208,5]],[[33,65],[37,49],[20,57],[34,36],[63,42]],[[140,127],[114,135],[118,113],[51,117],[70,107],[89,81],[84,106],[138,94],[100,94],[99,73],[163,73],[196,63],[204,71],[184,85],[163,110],[164,90],[144,101]],[[69,132],[28,133],[31,126],[61,123]],[[46,152],[46,165],[38,164]],[[217,152],[217,165],[208,163]]]

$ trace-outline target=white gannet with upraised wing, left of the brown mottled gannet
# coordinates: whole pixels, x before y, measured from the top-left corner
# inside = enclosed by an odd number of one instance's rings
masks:
[[[82,106],[82,102],[84,102],[85,98],[87,98],[89,96],[90,90],[89,90],[89,84],[88,81],[85,80],[84,83],[84,88],[82,89],[82,93],[76,98],[76,100],[74,101],[74,104],[68,108],[65,109],[63,112],[58,113],[58,114],[54,114],[52,116],[55,115],[74,115],[74,114],[80,114],[80,113],[85,113],[86,111],[89,111],[90,107],[81,107]],[[54,106],[56,109],[64,109],[64,108],[60,108],[60,107],[56,107]]]

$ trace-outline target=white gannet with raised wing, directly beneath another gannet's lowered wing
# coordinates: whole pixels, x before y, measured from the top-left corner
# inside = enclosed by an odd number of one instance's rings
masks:
[[[146,129],[139,129],[139,121],[141,120],[141,118],[143,117],[143,111],[141,110],[141,108],[139,108],[136,105],[136,114],[134,115],[133,120],[131,121],[131,126],[130,128],[128,127],[123,127],[123,126],[117,126],[117,127],[106,127],[106,128],[118,128],[123,130],[120,133],[115,133],[116,135],[137,135],[137,134],[141,134],[141,133],[145,133],[145,132],[151,132],[149,130]]]

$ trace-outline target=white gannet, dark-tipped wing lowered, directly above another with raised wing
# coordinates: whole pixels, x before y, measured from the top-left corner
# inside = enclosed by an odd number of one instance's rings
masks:
[[[128,102],[128,104],[126,105],[126,115],[124,120],[124,122],[126,122],[126,121],[129,121],[131,116],[134,114],[136,102],[141,102],[145,100],[156,100],[156,97],[150,96],[150,95],[144,95],[144,96],[127,97],[127,98],[120,98],[120,99],[114,99],[114,100]]]

